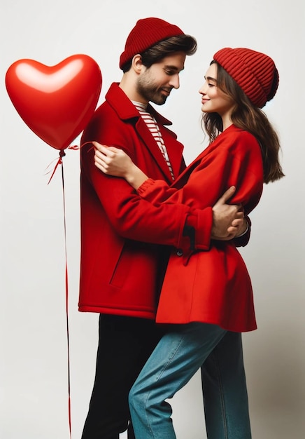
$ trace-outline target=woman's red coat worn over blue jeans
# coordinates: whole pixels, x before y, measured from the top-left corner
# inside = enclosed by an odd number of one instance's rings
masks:
[[[220,134],[173,187],[147,180],[139,194],[154,203],[185,203],[205,208],[213,205],[231,185],[236,186],[232,203],[242,203],[248,214],[262,194],[262,155],[255,137],[235,126]],[[157,322],[191,321],[213,323],[237,332],[256,328],[250,277],[234,243],[211,241],[208,251],[187,255],[171,252]]]

